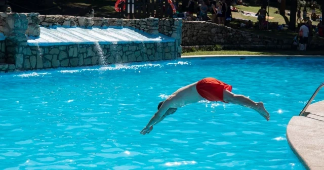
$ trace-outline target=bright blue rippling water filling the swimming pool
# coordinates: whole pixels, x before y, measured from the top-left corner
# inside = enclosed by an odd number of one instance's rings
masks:
[[[323,58],[196,58],[3,73],[0,169],[304,169],[286,127],[323,72]],[[204,77],[263,101],[270,121],[202,101],[140,134],[159,101]]]

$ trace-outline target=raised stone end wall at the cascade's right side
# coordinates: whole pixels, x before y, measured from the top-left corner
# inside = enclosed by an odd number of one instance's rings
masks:
[[[182,53],[182,19],[160,19],[158,21],[158,32],[176,39],[175,49],[177,57]]]

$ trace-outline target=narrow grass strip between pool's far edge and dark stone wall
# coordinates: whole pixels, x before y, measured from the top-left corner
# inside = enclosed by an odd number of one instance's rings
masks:
[[[196,55],[323,55],[323,51],[235,51],[235,50],[222,50],[222,51],[195,51],[182,53],[182,56],[196,56]]]

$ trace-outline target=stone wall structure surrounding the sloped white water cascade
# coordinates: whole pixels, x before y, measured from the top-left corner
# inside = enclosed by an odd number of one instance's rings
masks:
[[[170,60],[181,57],[182,20],[107,19],[38,13],[0,13],[0,72],[98,64]],[[149,34],[166,34],[176,40],[165,43],[132,43],[99,45],[28,45],[27,36],[39,36],[39,26],[63,27],[132,27]],[[37,38],[37,37],[36,37]],[[5,55],[2,55],[4,52]],[[5,56],[5,57],[4,57]]]

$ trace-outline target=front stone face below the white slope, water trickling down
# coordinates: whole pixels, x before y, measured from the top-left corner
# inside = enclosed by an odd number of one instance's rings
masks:
[[[170,60],[176,58],[175,43],[120,45],[30,46],[24,60],[16,62],[20,70],[98,64]]]

